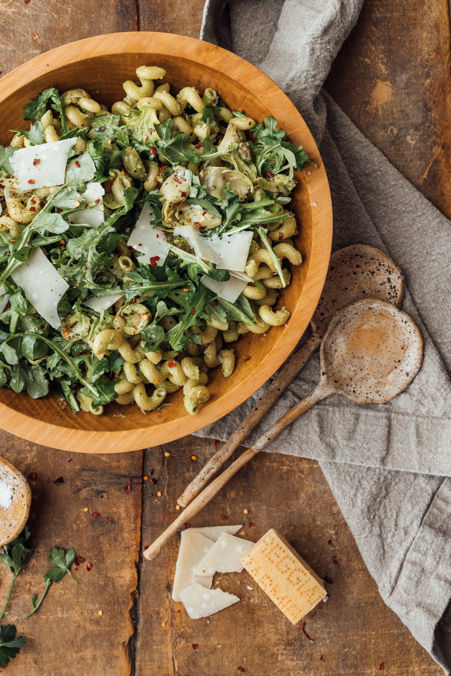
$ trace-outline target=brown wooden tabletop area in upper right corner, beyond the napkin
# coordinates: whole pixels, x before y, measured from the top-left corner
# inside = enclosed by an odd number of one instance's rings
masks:
[[[450,218],[448,0],[366,0],[325,89]]]

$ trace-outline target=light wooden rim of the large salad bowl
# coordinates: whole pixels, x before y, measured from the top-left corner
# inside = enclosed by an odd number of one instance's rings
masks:
[[[145,424],[146,418],[143,417],[143,426],[132,431],[129,429],[89,431],[60,424],[52,425],[0,402],[0,426],[3,429],[14,434],[20,431],[20,437],[28,441],[72,452],[116,453],[167,443],[210,425],[237,408],[264,385],[298,344],[318,303],[329,265],[332,243],[331,193],[325,167],[312,134],[295,105],[275,82],[256,66],[222,47],[183,35],[161,32],[120,32],[85,38],[55,47],[3,76],[0,79],[0,103],[17,89],[29,85],[37,78],[42,78],[62,64],[68,66],[85,61],[87,58],[95,59],[135,52],[158,53],[174,59],[183,58],[199,67],[214,68],[218,72],[224,72],[224,63],[227,63],[229,79],[235,80],[241,89],[247,89],[257,98],[262,97],[262,100],[264,97],[270,98],[277,119],[291,118],[293,120],[290,122],[291,128],[294,124],[298,125],[304,147],[318,164],[317,170],[311,172],[304,170],[296,176],[298,184],[303,185],[306,199],[310,200],[312,218],[310,264],[302,287],[305,304],[291,315],[283,337],[277,343],[277,354],[271,354],[262,360],[258,368],[250,372],[248,377],[235,383],[235,387],[227,393],[228,402],[224,402],[225,406],[219,413],[219,402],[216,405],[215,402],[211,402],[208,406],[202,407],[197,416],[187,415],[183,420],[175,418],[156,425],[151,418],[147,418],[148,423]],[[52,83],[48,82],[46,86],[51,85]],[[286,124],[281,122],[284,128]],[[321,203],[316,206],[315,197],[320,193]],[[28,395],[24,393],[24,396]],[[176,425],[177,422],[179,425]]]

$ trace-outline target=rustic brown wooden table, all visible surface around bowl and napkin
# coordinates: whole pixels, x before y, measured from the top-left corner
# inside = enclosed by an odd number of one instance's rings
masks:
[[[203,0],[7,0],[0,14],[5,36],[0,70],[4,74],[47,49],[99,32],[160,30],[197,37],[202,5]],[[448,216],[449,57],[448,0],[367,0],[326,84],[364,134]],[[245,573],[227,580],[241,604],[209,622],[189,621],[170,599],[177,541],[155,561],[141,560],[142,545],[177,514],[176,498],[214,451],[213,441],[187,437],[123,455],[69,456],[0,434],[0,454],[26,476],[36,473],[30,480],[30,529],[37,554],[19,577],[5,618],[28,642],[5,673],[442,673],[383,604],[316,462],[262,454],[195,522],[220,524],[222,510],[229,523],[246,522],[252,539],[275,527],[302,552],[329,581],[329,602],[306,619],[309,642],[300,627],[266,603]],[[190,460],[193,452],[196,462]],[[55,485],[61,476],[64,483]],[[158,483],[144,481],[145,476]],[[74,546],[85,559],[74,573],[79,585],[67,577],[53,585],[39,613],[24,621],[28,597],[43,589],[47,553],[55,545]],[[10,581],[3,566],[0,580],[3,605]]]

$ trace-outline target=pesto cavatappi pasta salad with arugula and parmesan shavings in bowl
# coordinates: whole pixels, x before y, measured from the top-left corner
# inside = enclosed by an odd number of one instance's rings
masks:
[[[195,415],[210,370],[233,375],[235,341],[289,320],[275,309],[302,263],[289,195],[311,162],[212,87],[136,76],[111,111],[43,91],[0,147],[0,386],[50,384],[93,415],[180,390]]]

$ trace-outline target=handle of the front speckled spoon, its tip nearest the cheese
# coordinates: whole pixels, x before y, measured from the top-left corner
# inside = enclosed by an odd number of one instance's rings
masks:
[[[243,465],[246,464],[251,458],[254,458],[254,456],[262,450],[272,439],[277,437],[279,432],[281,432],[287,425],[293,422],[295,418],[298,418],[304,411],[308,410],[311,408],[316,402],[319,402],[321,399],[324,399],[327,397],[327,395],[331,394],[331,390],[327,388],[327,386],[324,385],[323,382],[319,383],[315,387],[315,389],[310,392],[306,397],[304,397],[303,400],[301,400],[298,404],[293,406],[275,425],[272,425],[271,429],[268,430],[265,434],[263,434],[259,439],[257,439],[256,443],[252,446],[252,448],[248,448],[233,462],[227,469],[222,472],[210,485],[208,485],[206,488],[204,488],[203,491],[199,493],[199,495],[194,498],[193,502],[187,506],[187,508],[177,516],[175,521],[172,521],[171,525],[166,528],[166,531],[160,535],[156,539],[153,544],[151,544],[150,547],[147,548],[144,552],[145,558],[151,560],[156,557],[158,552],[162,550],[166,542],[172,537],[172,535],[175,535],[176,531],[179,530],[181,526],[183,526],[186,521],[189,521],[190,518],[193,518],[198,512],[200,512],[201,508],[204,507],[214,496],[216,496],[216,493],[220,491],[220,489],[226,485],[227,481],[233,477],[234,474],[237,473],[239,469]]]

